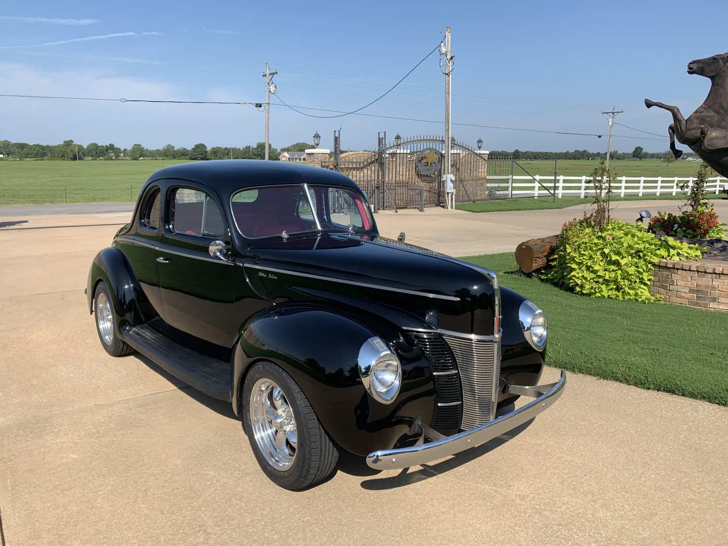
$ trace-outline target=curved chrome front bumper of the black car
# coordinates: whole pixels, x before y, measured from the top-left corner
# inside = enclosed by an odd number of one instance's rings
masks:
[[[552,384],[539,385],[538,387],[520,387],[509,384],[506,387],[506,392],[535,397],[536,400],[531,400],[523,407],[511,411],[510,414],[500,416],[491,422],[448,437],[443,437],[427,427],[422,427],[423,439],[424,435],[436,435],[440,438],[408,448],[374,451],[367,455],[366,463],[377,470],[395,470],[397,468],[414,467],[418,464],[442,459],[448,455],[454,455],[460,453],[460,451],[480,446],[480,444],[486,443],[533,419],[558,400],[558,397],[563,393],[564,387],[566,387],[566,373],[563,370],[559,380]],[[427,434],[428,432],[430,434]]]

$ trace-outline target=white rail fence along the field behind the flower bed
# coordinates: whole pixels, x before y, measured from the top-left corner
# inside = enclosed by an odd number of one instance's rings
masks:
[[[536,181],[530,176],[512,176],[508,178],[504,182],[509,185],[512,197],[551,197],[541,184],[555,191],[556,197],[559,198],[564,196],[576,197],[578,195],[579,197],[589,197],[594,195],[594,184],[589,176],[558,176],[554,180],[553,175],[534,175]],[[625,195],[676,195],[687,193],[689,186],[692,186],[694,180],[695,177],[658,176],[657,178],[649,178],[640,176],[634,178],[620,176],[612,182],[612,195],[625,197]],[[680,186],[685,182],[688,182],[689,186],[681,190]],[[708,183],[705,184],[705,192],[717,195],[727,185],[727,178],[708,178]]]

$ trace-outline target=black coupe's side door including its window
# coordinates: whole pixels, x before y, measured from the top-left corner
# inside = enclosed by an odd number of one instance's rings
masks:
[[[170,184],[159,244],[159,286],[165,322],[199,339],[232,347],[237,339],[234,264],[210,255],[222,241],[231,249],[220,204],[197,184]]]

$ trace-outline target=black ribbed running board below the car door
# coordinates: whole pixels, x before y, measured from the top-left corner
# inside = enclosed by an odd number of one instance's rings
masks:
[[[230,401],[230,363],[178,344],[148,324],[124,332],[124,341],[190,387]]]

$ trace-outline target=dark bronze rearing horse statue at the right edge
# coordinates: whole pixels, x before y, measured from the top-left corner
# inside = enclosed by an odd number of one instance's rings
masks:
[[[711,80],[711,92],[688,119],[682,116],[677,106],[649,99],[644,100],[644,105],[647,108],[665,108],[673,114],[673,124],[668,127],[668,133],[670,150],[676,159],[682,151],[675,147],[675,138],[689,146],[717,173],[728,176],[728,53],[692,60],[687,65],[687,73]]]

